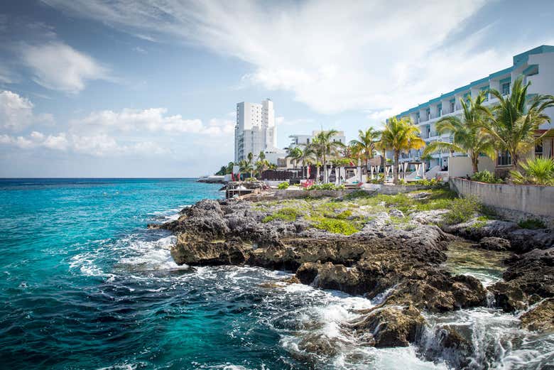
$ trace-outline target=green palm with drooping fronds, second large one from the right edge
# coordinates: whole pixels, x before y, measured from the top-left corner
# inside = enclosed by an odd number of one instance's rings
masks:
[[[437,124],[436,129],[439,134],[452,134],[452,143],[445,141],[434,141],[430,143],[423,156],[437,152],[463,152],[467,153],[471,160],[473,173],[479,171],[479,154],[484,153],[489,158],[494,158],[494,140],[482,129],[486,114],[482,107],[484,94],[477,95],[474,100],[465,102],[460,99],[462,104],[462,119],[457,116],[442,117]]]

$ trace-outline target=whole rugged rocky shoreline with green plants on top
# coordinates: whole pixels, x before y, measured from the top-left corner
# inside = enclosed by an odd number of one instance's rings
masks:
[[[408,197],[415,205],[428,205],[433,194]],[[171,255],[178,264],[287,270],[294,273],[290,283],[341,290],[378,303],[347,325],[375,347],[418,344],[426,325],[422,312],[479,306],[528,310],[522,327],[553,330],[551,230],[521,229],[512,222],[484,220],[482,214],[447,224],[443,218],[449,210],[416,207],[403,212],[394,205],[369,197],[202,200],[183,210],[179,219],[150,226],[177,236]],[[477,278],[447,271],[445,251],[459,237],[475,241],[475,248],[514,252],[505,261],[504,281],[484,287]],[[438,330],[443,347],[470,356],[467,352],[473,349],[464,333],[448,325]],[[325,351],[318,345],[314,350]]]

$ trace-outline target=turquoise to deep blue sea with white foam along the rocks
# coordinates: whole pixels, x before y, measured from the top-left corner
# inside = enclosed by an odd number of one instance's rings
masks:
[[[414,347],[375,349],[344,331],[372,307],[364,298],[286,285],[289,273],[264,268],[177,266],[175,237],[146,224],[222,197],[218,189],[194,179],[0,180],[0,368],[445,369]],[[506,333],[519,335],[512,316],[452,315],[429,320],[474,326],[479,345],[501,347],[513,369],[554,356],[553,341],[532,337],[506,349]]]

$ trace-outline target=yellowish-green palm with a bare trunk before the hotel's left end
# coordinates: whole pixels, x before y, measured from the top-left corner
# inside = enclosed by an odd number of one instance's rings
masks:
[[[381,146],[394,153],[393,183],[398,184],[398,158],[400,153],[411,149],[420,149],[425,141],[420,138],[418,126],[412,124],[409,118],[397,119],[391,117],[385,124],[381,134]]]

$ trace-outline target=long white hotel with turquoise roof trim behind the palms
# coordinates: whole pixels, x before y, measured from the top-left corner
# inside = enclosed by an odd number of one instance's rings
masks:
[[[471,82],[469,85],[458,87],[457,89],[442,94],[440,97],[431,99],[428,102],[418,105],[403,111],[398,114],[398,118],[409,117],[412,122],[418,124],[421,130],[421,137],[426,143],[433,141],[450,141],[452,136],[439,135],[435,129],[436,122],[444,117],[451,115],[461,115],[462,107],[460,99],[468,99],[479,94],[479,92],[487,92],[489,89],[496,89],[504,95],[511,92],[511,85],[520,75],[523,75],[523,82],[531,82],[528,89],[528,94],[554,94],[554,46],[542,45],[514,56],[514,64],[504,70],[491,73],[487,77]],[[487,101],[485,105],[494,105],[497,99],[491,95],[486,95]],[[554,109],[550,108],[545,111],[548,116],[554,121]],[[541,129],[552,129],[554,124],[545,124]],[[418,151],[410,151],[403,153],[401,162],[420,160],[423,149]],[[536,146],[536,156],[545,156],[554,158],[554,138],[545,138],[543,143]],[[440,166],[446,168],[448,166],[449,153],[434,154],[428,162],[428,168]],[[453,156],[465,156],[465,153],[454,153]],[[506,153],[499,153],[496,160],[496,166],[510,165],[511,158]]]

